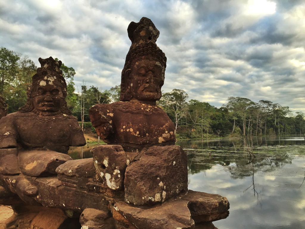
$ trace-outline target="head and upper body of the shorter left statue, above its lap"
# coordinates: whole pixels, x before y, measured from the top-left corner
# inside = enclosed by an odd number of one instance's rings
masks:
[[[65,98],[61,61],[39,58],[41,67],[27,90],[27,104],[0,123],[0,148],[45,148],[67,153],[69,146],[86,144],[83,132]],[[26,130],[26,131],[25,131]]]

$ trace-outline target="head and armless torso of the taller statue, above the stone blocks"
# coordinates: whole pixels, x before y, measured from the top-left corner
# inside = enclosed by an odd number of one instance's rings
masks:
[[[166,57],[155,43],[159,31],[148,18],[132,22],[127,31],[132,44],[122,71],[120,102],[93,106],[92,125],[106,143],[121,145],[125,151],[174,145],[173,122],[156,105],[166,68]]]

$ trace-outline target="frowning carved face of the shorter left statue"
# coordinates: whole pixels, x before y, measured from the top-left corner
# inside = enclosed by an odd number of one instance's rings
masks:
[[[34,110],[57,112],[63,106],[62,89],[56,85],[40,85],[34,92]]]

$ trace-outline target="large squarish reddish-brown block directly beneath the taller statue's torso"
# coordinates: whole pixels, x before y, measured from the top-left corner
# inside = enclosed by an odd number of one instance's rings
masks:
[[[125,172],[125,201],[138,205],[162,203],[187,191],[187,156],[180,146],[154,146]]]

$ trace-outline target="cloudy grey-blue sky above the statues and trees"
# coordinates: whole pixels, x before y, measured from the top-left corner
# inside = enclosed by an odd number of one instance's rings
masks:
[[[305,1],[1,0],[0,46],[57,57],[75,83],[109,89],[131,45],[127,27],[148,17],[167,56],[163,92],[220,107],[229,96],[305,113]]]

